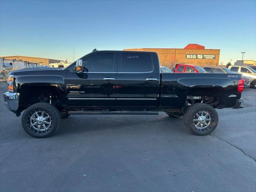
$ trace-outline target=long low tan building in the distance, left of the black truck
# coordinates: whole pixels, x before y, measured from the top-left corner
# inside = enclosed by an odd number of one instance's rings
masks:
[[[0,58],[8,59],[8,60],[22,60],[22,61],[28,61],[32,63],[38,63],[40,65],[49,65],[51,63],[59,63],[62,60],[57,59],[49,59],[49,58],[40,58],[40,57],[29,57],[29,56],[20,56],[20,55],[14,55],[14,56],[0,56]]]

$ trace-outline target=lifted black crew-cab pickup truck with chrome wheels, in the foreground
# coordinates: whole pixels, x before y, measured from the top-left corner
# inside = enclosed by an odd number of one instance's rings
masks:
[[[214,108],[242,108],[241,74],[160,73],[155,52],[93,51],[66,68],[26,68],[8,75],[6,107],[22,114],[33,137],[56,132],[71,114],[183,116],[196,135],[218,124]],[[85,124],[86,126],[86,124]]]

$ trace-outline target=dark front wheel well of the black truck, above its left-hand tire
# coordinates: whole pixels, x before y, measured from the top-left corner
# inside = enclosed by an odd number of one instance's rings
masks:
[[[20,89],[19,110],[22,112],[30,105],[39,102],[50,102],[56,107],[60,106],[60,92],[53,86],[26,86]]]

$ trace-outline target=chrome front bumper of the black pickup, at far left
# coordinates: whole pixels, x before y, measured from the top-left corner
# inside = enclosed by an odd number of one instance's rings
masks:
[[[16,113],[19,108],[19,98],[19,93],[6,92],[4,93],[4,105],[6,108],[8,108],[8,110]]]

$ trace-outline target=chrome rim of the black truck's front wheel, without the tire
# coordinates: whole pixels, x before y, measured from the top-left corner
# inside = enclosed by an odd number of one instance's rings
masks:
[[[52,126],[52,119],[48,113],[44,111],[35,111],[28,118],[28,126],[34,132],[46,132],[50,130]]]

